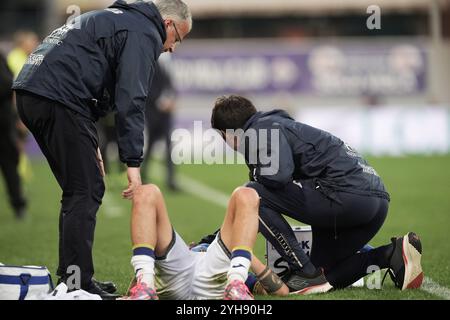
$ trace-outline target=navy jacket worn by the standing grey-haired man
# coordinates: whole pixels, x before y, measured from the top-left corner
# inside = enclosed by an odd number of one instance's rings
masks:
[[[116,112],[120,160],[137,167],[148,86],[165,40],[153,3],[116,1],[47,36],[13,89],[58,101],[93,121]]]

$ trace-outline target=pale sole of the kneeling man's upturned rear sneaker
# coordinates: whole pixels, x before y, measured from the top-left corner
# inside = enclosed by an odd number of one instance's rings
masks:
[[[422,245],[413,232],[403,237],[403,262],[405,263],[405,277],[402,290],[420,288],[423,282],[421,265]]]

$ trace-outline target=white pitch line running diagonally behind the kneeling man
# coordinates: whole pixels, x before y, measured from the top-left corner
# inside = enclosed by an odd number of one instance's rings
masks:
[[[179,175],[180,186],[186,192],[201,198],[203,200],[212,202],[216,205],[227,207],[229,196],[219,190],[214,190],[213,188],[203,184],[202,182],[187,177],[185,175]],[[438,296],[445,300],[450,300],[450,289],[443,287],[436,283],[430,277],[425,277],[420,288],[432,295]]]

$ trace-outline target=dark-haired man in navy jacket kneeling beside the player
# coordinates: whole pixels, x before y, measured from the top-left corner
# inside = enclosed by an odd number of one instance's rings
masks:
[[[421,285],[422,248],[414,233],[359,252],[383,225],[389,195],[376,171],[342,140],[282,110],[257,112],[240,96],[218,98],[211,125],[245,157],[248,186],[261,197],[260,231],[288,262],[284,280],[292,292],[344,288],[371,266],[389,268],[402,290]],[[282,214],[311,225],[310,258]]]

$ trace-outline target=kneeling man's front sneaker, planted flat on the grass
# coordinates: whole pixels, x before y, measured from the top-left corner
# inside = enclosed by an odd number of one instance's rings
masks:
[[[333,287],[325,278],[323,270],[317,269],[316,274],[308,276],[301,271],[293,271],[285,275],[284,282],[289,288],[289,294],[312,294],[330,291]]]

